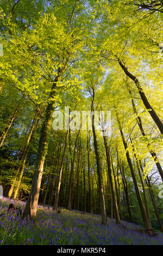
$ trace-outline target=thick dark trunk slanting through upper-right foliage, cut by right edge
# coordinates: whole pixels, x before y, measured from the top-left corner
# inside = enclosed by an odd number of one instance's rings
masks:
[[[122,61],[120,59],[118,59],[118,62],[121,66],[121,68],[123,69],[124,73],[135,82],[135,85],[137,87],[137,90],[140,94],[140,97],[142,99],[143,104],[145,105],[146,109],[148,110],[149,114],[151,115],[153,121],[155,122],[156,126],[159,128],[160,133],[163,134],[163,123],[161,122],[160,118],[158,117],[158,115],[156,114],[156,112],[154,111],[154,109],[152,108],[151,104],[148,102],[148,99],[145,95],[145,93],[142,90],[142,87],[140,85],[139,80],[136,78],[136,76],[134,76],[133,74],[131,74],[127,67],[124,66],[124,64],[122,63]]]

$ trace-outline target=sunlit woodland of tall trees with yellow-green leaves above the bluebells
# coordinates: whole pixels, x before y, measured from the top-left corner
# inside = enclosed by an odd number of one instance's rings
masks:
[[[161,0],[1,1],[0,184],[23,218],[47,204],[163,231],[162,13]],[[91,129],[75,115],[53,129],[66,106]],[[110,111],[109,136],[93,111]]]

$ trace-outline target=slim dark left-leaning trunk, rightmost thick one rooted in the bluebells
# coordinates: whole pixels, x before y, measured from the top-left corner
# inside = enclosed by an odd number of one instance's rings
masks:
[[[142,201],[142,198],[141,198],[139,186],[137,184],[137,180],[136,180],[133,164],[131,162],[129,152],[127,150],[127,143],[126,143],[126,140],[124,139],[124,135],[123,135],[123,132],[122,132],[121,124],[120,124],[120,121],[118,120],[118,115],[117,114],[116,114],[116,116],[117,116],[117,122],[118,122],[118,126],[119,126],[119,129],[120,129],[120,133],[121,133],[124,149],[126,151],[127,162],[128,162],[128,165],[129,165],[129,168],[130,168],[130,171],[131,171],[131,176],[133,177],[135,192],[136,192],[137,200],[138,200],[139,207],[140,207],[140,210],[141,210],[141,215],[142,215],[143,223],[145,225],[146,231],[148,233],[150,233],[150,232],[152,232],[151,231],[151,225],[149,223],[149,220],[148,220],[148,217],[147,217],[147,213],[146,213],[145,207],[143,205],[143,201]]]

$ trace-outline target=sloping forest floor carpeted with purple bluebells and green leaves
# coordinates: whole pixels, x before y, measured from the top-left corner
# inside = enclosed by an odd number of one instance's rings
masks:
[[[0,245],[163,245],[163,234],[148,236],[142,227],[108,218],[101,224],[101,216],[68,211],[54,212],[52,207],[38,206],[35,219],[21,219],[16,211],[8,211],[9,204],[23,210],[25,202],[0,198]]]

